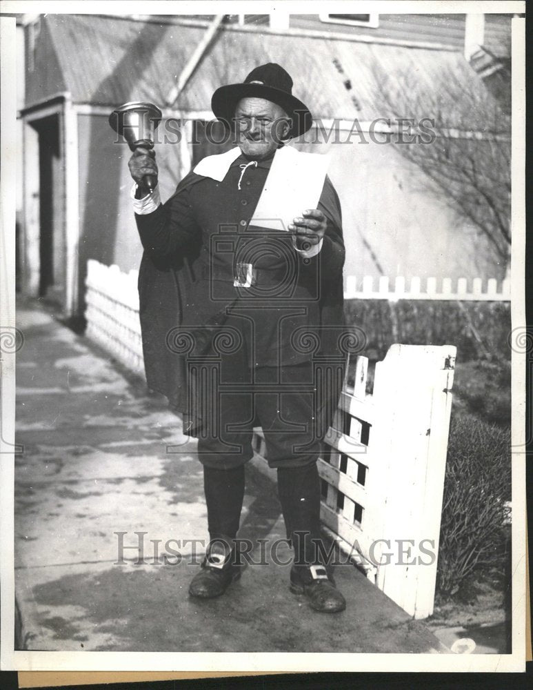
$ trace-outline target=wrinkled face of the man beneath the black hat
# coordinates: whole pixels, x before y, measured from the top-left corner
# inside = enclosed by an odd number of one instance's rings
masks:
[[[243,154],[260,161],[271,156],[290,128],[280,106],[264,98],[243,98],[235,108],[237,144]]]

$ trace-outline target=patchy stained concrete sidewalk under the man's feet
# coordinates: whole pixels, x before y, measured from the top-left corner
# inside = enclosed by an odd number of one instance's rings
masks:
[[[15,580],[24,646],[99,651],[445,651],[353,566],[336,566],[348,607],[314,613],[290,566],[249,566],[221,598],[188,597],[192,547],[207,540],[195,444],[160,397],[40,306],[21,305],[17,354]],[[168,446],[179,453],[168,453]],[[143,535],[145,564],[124,546]],[[243,538],[285,531],[276,488],[247,468]],[[165,542],[180,564],[163,564]],[[161,540],[154,554],[150,540]],[[197,547],[200,552],[202,549]],[[254,558],[259,560],[257,552]],[[169,551],[170,553],[170,551]],[[287,562],[286,546],[279,557]]]

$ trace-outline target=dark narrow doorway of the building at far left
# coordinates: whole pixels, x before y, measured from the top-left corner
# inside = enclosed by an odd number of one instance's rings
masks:
[[[65,297],[65,173],[59,115],[32,122],[39,134],[39,297],[63,307]]]

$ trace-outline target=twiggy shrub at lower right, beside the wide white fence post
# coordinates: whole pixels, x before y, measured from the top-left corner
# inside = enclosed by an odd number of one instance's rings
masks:
[[[510,431],[452,415],[437,587],[455,593],[474,571],[505,568],[511,499]]]

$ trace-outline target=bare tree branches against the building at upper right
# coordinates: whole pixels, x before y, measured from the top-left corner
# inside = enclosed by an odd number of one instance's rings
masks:
[[[391,75],[376,61],[373,71],[381,116],[435,122],[432,144],[396,144],[396,150],[425,173],[428,190],[481,231],[505,269],[511,242],[510,116],[505,108],[467,63],[447,63],[430,86],[421,79],[424,70]]]

